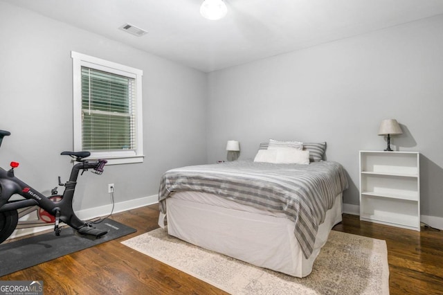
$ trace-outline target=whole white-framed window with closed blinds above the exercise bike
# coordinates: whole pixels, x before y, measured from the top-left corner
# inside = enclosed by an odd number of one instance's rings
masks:
[[[109,164],[143,162],[143,71],[72,52],[74,150]]]

